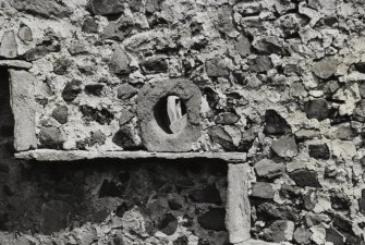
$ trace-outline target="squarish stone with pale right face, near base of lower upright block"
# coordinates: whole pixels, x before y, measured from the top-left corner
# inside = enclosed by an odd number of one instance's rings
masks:
[[[269,242],[288,242],[293,238],[294,222],[288,220],[277,220],[264,230],[264,238]]]

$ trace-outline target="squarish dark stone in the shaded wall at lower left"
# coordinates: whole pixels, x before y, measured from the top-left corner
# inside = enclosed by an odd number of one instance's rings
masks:
[[[59,232],[68,225],[70,206],[62,200],[50,200],[41,206],[40,230],[45,235]]]

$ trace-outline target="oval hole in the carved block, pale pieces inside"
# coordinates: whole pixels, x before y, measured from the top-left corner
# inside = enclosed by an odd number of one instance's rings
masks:
[[[163,97],[154,107],[154,117],[167,134],[177,134],[186,126],[186,106],[178,96]]]

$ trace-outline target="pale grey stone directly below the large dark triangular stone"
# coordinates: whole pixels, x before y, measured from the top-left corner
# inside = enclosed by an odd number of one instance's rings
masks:
[[[299,155],[297,145],[293,136],[280,137],[271,144],[271,149],[282,158],[292,158]]]

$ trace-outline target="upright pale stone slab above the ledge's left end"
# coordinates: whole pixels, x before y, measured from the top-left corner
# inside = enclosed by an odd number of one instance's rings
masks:
[[[11,107],[14,114],[14,147],[17,151],[37,147],[35,126],[34,83],[36,77],[26,71],[9,70]]]

